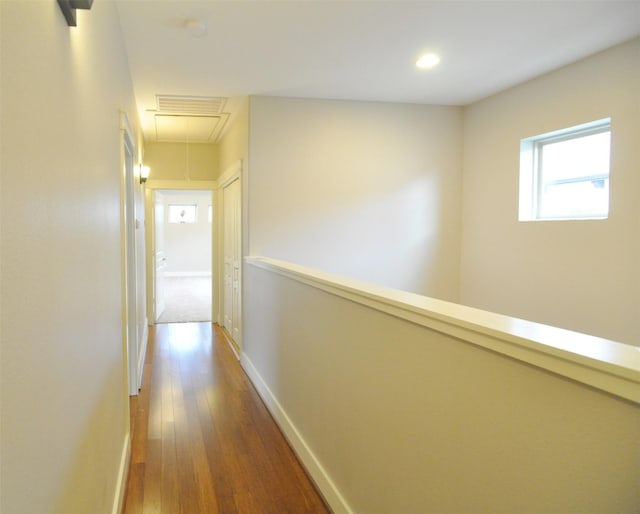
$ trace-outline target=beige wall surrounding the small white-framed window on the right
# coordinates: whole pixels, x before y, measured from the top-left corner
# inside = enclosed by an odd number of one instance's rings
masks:
[[[520,139],[611,116],[609,219],[518,222]],[[640,39],[465,109],[460,302],[640,344]]]

